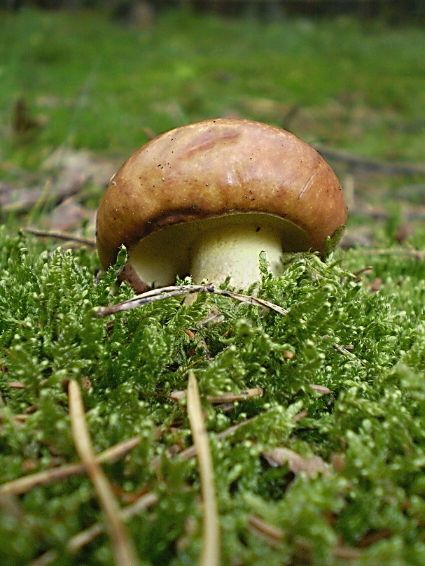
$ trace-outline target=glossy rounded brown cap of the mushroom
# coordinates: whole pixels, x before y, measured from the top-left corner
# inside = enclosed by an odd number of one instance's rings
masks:
[[[113,176],[97,213],[99,258],[107,268],[122,244],[131,252],[165,227],[242,213],[301,229],[283,244],[293,251],[322,252],[347,220],[340,183],[307,143],[260,122],[205,120],[146,143]]]

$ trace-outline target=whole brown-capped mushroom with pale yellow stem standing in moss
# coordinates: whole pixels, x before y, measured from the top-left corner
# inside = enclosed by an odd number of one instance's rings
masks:
[[[332,169],[311,146],[251,120],[204,120],[172,129],[134,153],[97,213],[104,268],[127,247],[122,278],[134,290],[230,276],[246,289],[263,251],[274,274],[285,252],[323,252],[347,220]]]

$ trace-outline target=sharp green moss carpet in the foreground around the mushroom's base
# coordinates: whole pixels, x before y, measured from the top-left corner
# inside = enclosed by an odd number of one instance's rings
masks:
[[[193,563],[202,520],[197,465],[164,458],[176,441],[191,444],[185,404],[167,396],[186,388],[193,369],[214,456],[225,563],[339,565],[340,549],[349,547],[353,565],[421,564],[425,285],[405,275],[411,260],[382,260],[387,276],[376,293],[344,269],[358,261],[354,252],[336,263],[332,255],[326,263],[294,255],[280,278],[263,264],[259,296],[287,316],[201,295],[189,308],[166,299],[105,320],[93,316],[93,306],[131,296],[125,286],[109,294],[116,269],[96,280],[95,257],[84,250],[46,251],[4,232],[0,250],[2,482],[25,474],[29,463],[37,471],[57,458],[78,461],[64,380],[90,380],[83,392],[95,449],[141,439],[124,460],[105,466],[121,503],[143,490],[159,496],[130,521],[140,556],[153,565]],[[211,303],[223,317],[200,325]],[[312,383],[330,393],[320,395]],[[254,387],[264,388],[263,397],[230,411],[206,399]],[[270,467],[261,453],[276,446],[320,455],[330,475],[309,479]],[[77,556],[64,554],[70,537],[101,518],[85,476],[1,505],[2,563],[18,566],[49,549],[60,551],[61,564],[113,563],[106,537]],[[249,528],[252,515],[284,538],[267,544]]]

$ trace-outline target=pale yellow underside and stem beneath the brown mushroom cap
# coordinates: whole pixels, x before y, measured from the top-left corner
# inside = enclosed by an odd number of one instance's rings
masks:
[[[284,218],[229,213],[153,232],[129,250],[129,262],[149,287],[172,285],[176,276],[191,275],[195,283],[222,283],[230,276],[235,288],[246,289],[260,278],[261,252],[279,275],[282,253],[309,248],[307,233]]]

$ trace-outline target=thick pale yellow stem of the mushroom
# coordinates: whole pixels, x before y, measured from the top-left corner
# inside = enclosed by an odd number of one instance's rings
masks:
[[[202,234],[192,250],[190,273],[195,283],[207,280],[246,289],[260,280],[259,255],[265,252],[270,270],[281,274],[282,245],[277,230],[258,224],[233,224]]]

